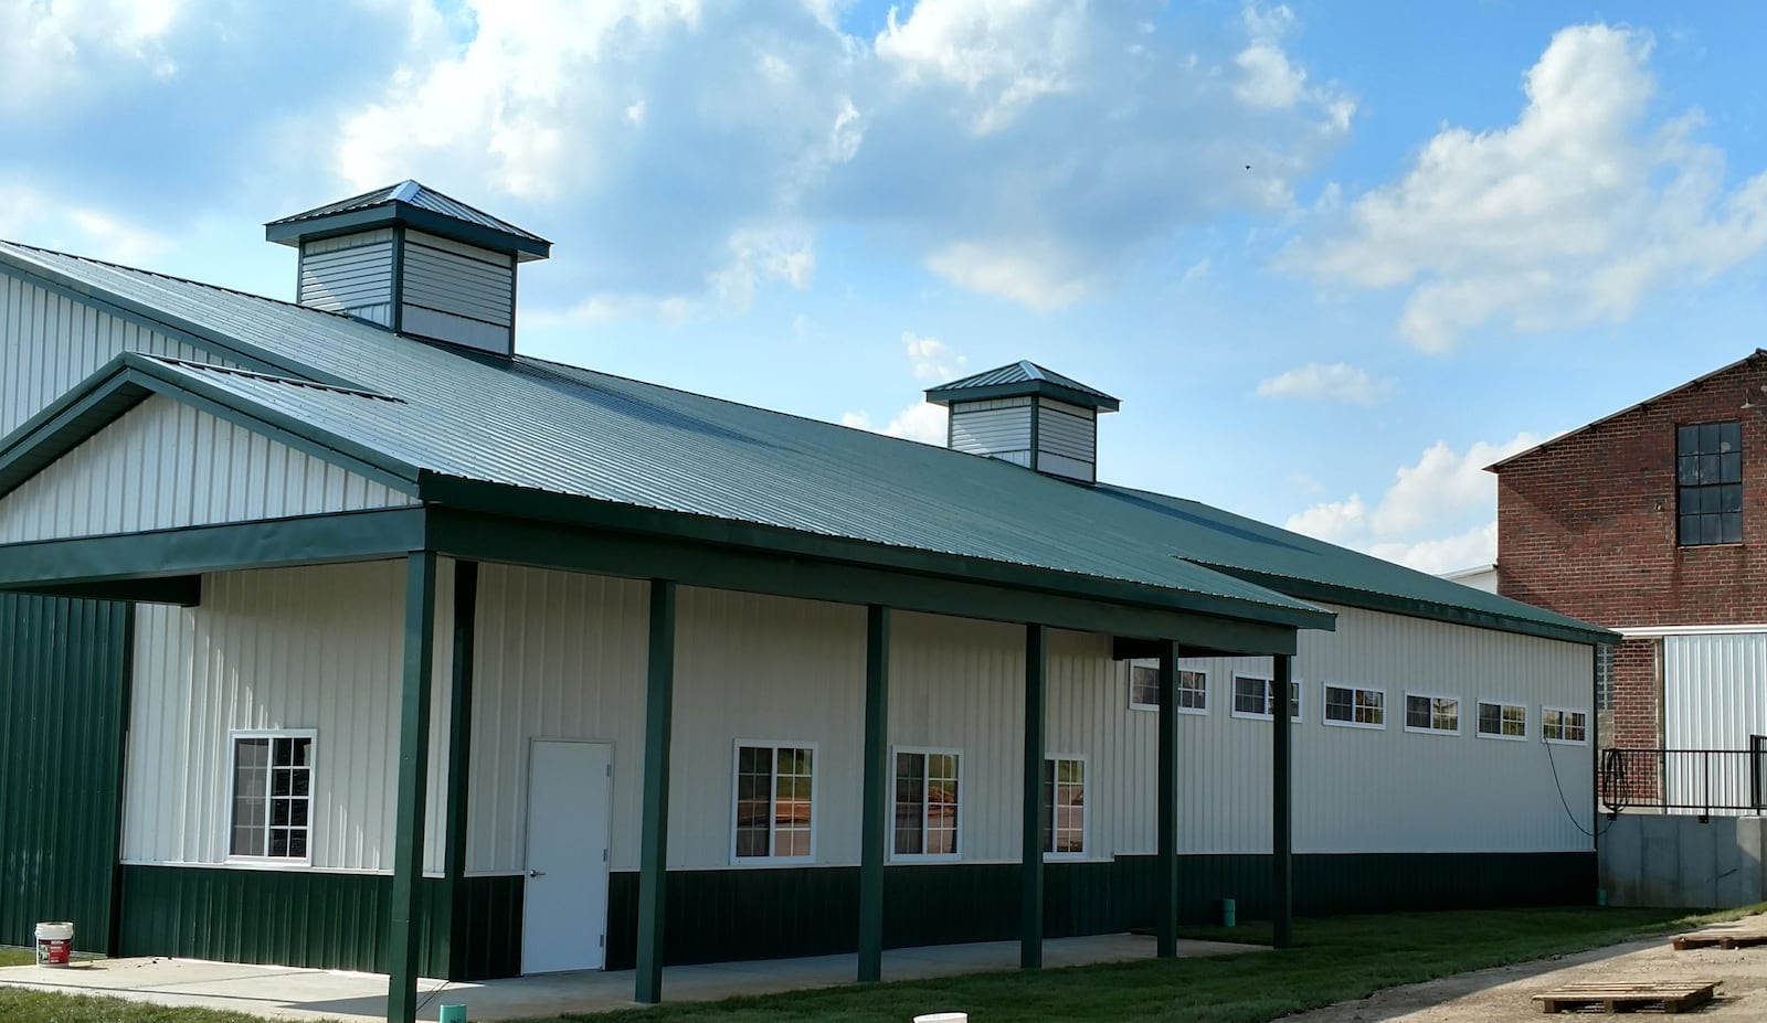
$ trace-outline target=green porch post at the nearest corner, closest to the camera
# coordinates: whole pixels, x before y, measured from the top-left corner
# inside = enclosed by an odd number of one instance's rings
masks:
[[[387,1023],[417,1019],[417,949],[422,913],[424,806],[429,781],[429,677],[435,671],[436,555],[405,558],[405,678],[399,696],[398,837],[392,852],[392,906],[387,956]]]

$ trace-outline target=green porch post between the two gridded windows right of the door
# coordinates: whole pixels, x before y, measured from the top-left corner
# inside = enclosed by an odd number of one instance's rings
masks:
[[[889,608],[866,610],[866,767],[859,853],[859,981],[884,979],[884,843],[889,841]]]

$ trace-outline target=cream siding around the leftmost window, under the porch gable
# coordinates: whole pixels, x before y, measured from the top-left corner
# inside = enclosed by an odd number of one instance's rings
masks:
[[[452,562],[442,562],[424,855],[431,875],[442,869],[447,797],[452,580]],[[124,862],[226,864],[230,737],[286,728],[316,731],[311,869],[391,871],[403,636],[399,560],[221,572],[203,580],[200,608],[138,606]]]

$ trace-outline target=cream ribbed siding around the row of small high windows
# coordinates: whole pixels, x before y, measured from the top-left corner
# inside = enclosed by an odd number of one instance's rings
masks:
[[[1297,850],[1590,848],[1589,836],[1578,830],[1592,827],[1590,749],[1548,746],[1539,731],[1543,703],[1592,712],[1589,647],[1354,608],[1332,610],[1339,615],[1338,631],[1301,633],[1295,661],[1302,693],[1302,721],[1293,731]],[[1267,852],[1270,723],[1232,716],[1232,673],[1269,677],[1269,659],[1210,659],[1187,666],[1209,671],[1210,707],[1207,717],[1182,719],[1180,850]],[[1327,680],[1384,689],[1387,728],[1323,724]],[[1461,733],[1405,731],[1407,691],[1458,696]],[[1479,739],[1479,698],[1527,703],[1528,740]],[[1574,818],[1560,802],[1558,786]]]

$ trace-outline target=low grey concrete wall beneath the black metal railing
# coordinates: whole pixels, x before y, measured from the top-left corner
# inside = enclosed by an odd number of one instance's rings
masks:
[[[1767,818],[1622,813],[1597,818],[1612,906],[1732,908],[1767,901]]]

